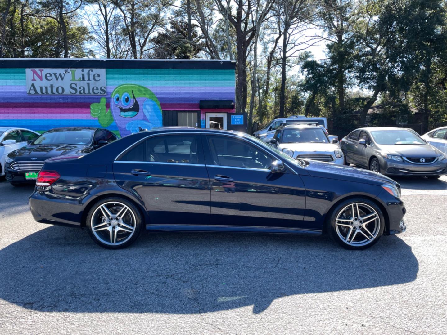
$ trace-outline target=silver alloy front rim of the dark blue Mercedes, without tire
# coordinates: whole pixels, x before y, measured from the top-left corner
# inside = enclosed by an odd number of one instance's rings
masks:
[[[338,212],[335,230],[344,243],[362,247],[377,238],[380,217],[370,205],[354,202]]]

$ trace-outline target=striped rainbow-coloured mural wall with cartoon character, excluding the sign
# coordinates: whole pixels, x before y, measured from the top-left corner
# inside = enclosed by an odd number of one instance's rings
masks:
[[[202,113],[203,120],[207,111],[200,109],[200,100],[234,101],[234,67],[216,69],[218,66],[212,63],[214,68],[207,65],[201,69],[195,64],[190,66],[194,68],[176,68],[178,62],[172,61],[173,68],[131,68],[135,63],[127,60],[122,61],[120,68],[108,68],[95,61],[91,60],[86,67],[105,67],[104,96],[28,94],[25,69],[30,64],[6,68],[8,62],[0,60],[3,66],[0,66],[0,126],[20,126],[40,132],[63,126],[106,127],[125,136],[138,127],[161,126],[162,111],[197,111]],[[46,62],[48,66],[43,67],[59,66],[50,59]],[[206,62],[213,61],[203,61]],[[148,67],[152,63],[148,61]],[[80,63],[76,65],[80,67]],[[39,66],[42,67],[42,62]],[[204,127],[203,123],[199,126]]]

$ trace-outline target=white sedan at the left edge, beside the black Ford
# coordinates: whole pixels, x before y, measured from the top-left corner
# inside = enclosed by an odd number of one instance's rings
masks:
[[[4,160],[14,150],[25,147],[26,143],[40,134],[25,128],[0,127],[0,176],[4,176]]]

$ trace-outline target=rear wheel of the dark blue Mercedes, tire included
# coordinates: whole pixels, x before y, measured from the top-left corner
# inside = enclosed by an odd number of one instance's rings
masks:
[[[120,213],[120,210],[123,209],[123,205],[127,206],[127,210],[125,211],[125,214],[123,214],[125,218],[121,218],[121,220],[118,220],[119,216],[118,218],[114,218],[114,220],[106,218],[103,212],[104,207],[102,207],[103,209],[100,208],[103,205],[105,205],[110,213],[114,215]],[[99,220],[100,222],[98,222]],[[109,223],[107,223],[107,221]],[[93,231],[93,226],[101,229]],[[128,232],[129,226],[134,227],[133,233]],[[142,226],[143,218],[139,209],[131,201],[121,197],[110,197],[98,201],[90,209],[86,221],[86,227],[90,237],[95,243],[106,249],[122,249],[128,247],[138,239]],[[114,233],[115,230],[117,233]],[[126,237],[127,234],[129,234],[128,237]],[[106,238],[109,236],[110,242],[107,242]],[[112,238],[114,240],[112,240]],[[121,241],[118,241],[119,238],[121,238]]]

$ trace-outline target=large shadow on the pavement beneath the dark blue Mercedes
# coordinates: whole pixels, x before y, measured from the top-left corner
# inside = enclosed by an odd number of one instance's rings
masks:
[[[190,314],[279,297],[414,281],[411,247],[385,236],[364,251],[320,236],[142,234],[105,250],[85,230],[50,226],[0,250],[0,298],[49,312]]]

